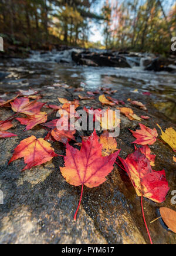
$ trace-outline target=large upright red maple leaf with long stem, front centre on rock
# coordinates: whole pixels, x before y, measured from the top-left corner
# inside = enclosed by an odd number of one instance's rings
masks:
[[[113,169],[119,151],[110,156],[101,156],[101,149],[102,145],[99,143],[99,137],[95,130],[86,142],[82,142],[80,151],[70,146],[69,143],[66,145],[65,167],[60,168],[60,171],[70,185],[82,185],[82,194],[83,185],[89,188],[99,186],[106,181],[105,177]],[[79,205],[74,216],[75,220]]]

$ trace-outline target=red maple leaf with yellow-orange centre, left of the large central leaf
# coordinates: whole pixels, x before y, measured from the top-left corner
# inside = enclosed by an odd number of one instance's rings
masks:
[[[54,156],[57,156],[57,154],[54,152],[50,143],[42,138],[36,139],[35,136],[31,136],[19,143],[9,163],[24,157],[27,165],[22,170],[26,170],[33,166],[42,165],[42,163],[50,161]]]

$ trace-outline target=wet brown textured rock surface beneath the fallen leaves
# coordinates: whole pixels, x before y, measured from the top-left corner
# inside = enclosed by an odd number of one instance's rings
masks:
[[[74,88],[60,88],[43,86],[39,88],[43,95],[40,101],[48,104],[57,104],[57,97],[68,100],[77,99],[78,94],[85,95],[86,91],[74,91]],[[80,107],[101,107],[98,100],[80,100]],[[118,91],[114,98],[127,100],[130,92]],[[133,100],[140,100],[147,109],[149,120],[141,123],[151,128],[159,123],[166,127],[175,127],[170,119],[153,107],[151,98],[142,94],[133,94]],[[146,115],[146,111],[131,106],[126,101],[126,107],[132,107],[138,116]],[[112,108],[113,109],[113,108]],[[49,109],[42,109],[51,113]],[[7,107],[0,109],[1,120],[13,114]],[[56,118],[56,112],[49,114],[48,120]],[[137,129],[138,122],[130,121],[120,116],[120,135],[116,138],[117,147],[121,149],[120,156],[125,158],[134,151],[131,142],[134,137],[128,129]],[[126,173],[117,165],[107,176],[107,181],[97,188],[84,186],[82,204],[73,221],[80,196],[80,187],[69,185],[60,173],[60,166],[64,166],[63,157],[54,157],[50,162],[36,166],[31,170],[21,172],[25,166],[23,159],[18,159],[8,165],[13,150],[21,140],[31,135],[45,137],[48,133],[38,125],[32,130],[23,132],[25,126],[13,120],[14,127],[9,132],[18,134],[18,137],[0,139],[0,189],[4,193],[4,205],[0,205],[0,242],[1,244],[148,244],[140,198],[136,195],[133,185]],[[158,133],[160,134],[159,129]],[[76,132],[89,135],[91,132]],[[65,155],[65,147],[59,142],[50,142],[55,152]],[[73,144],[72,144],[73,145]],[[153,169],[165,169],[170,191],[165,202],[155,204],[144,199],[144,212],[148,228],[154,244],[175,244],[176,237],[161,223],[161,219],[150,224],[157,218],[158,208],[166,206],[176,209],[171,204],[171,191],[176,189],[175,163],[172,160],[174,152],[167,145],[157,140],[150,146],[155,157]]]

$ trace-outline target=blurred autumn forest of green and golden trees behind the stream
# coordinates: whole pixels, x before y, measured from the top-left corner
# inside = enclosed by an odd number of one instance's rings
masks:
[[[57,45],[170,52],[176,4],[163,0],[1,0],[0,36],[5,47],[51,50]],[[101,6],[100,12],[95,11]],[[103,42],[90,42],[97,24]]]

